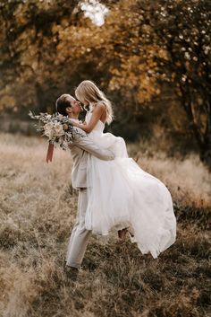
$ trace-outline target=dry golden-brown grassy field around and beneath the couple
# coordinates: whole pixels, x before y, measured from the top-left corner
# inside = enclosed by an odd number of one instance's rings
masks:
[[[63,269],[77,209],[72,160],[43,139],[0,135],[0,316],[191,317],[209,315],[210,174],[183,160],[129,145],[139,165],[173,195],[177,241],[157,260],[111,236],[92,236],[76,282]],[[153,153],[151,150],[150,153]]]

